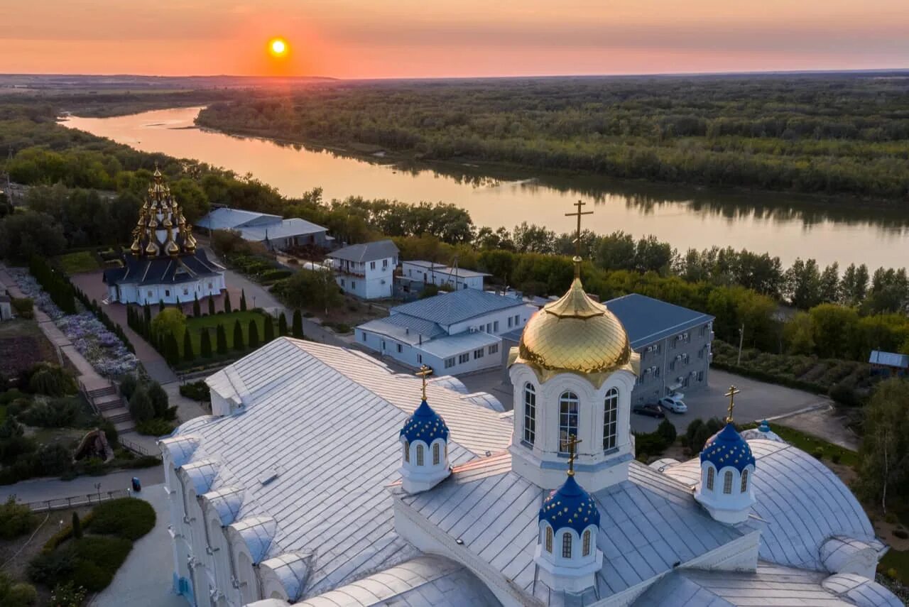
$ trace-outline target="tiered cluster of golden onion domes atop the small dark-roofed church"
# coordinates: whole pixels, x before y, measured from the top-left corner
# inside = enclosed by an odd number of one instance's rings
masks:
[[[186,223],[180,205],[165,184],[164,176],[155,167],[155,182],[148,186],[145,204],[139,210],[130,252],[136,257],[175,257],[194,254],[195,247],[193,226]]]

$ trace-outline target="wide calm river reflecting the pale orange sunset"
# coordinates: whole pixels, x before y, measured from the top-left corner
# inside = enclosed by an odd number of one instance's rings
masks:
[[[585,226],[598,234],[654,234],[679,251],[718,245],[796,257],[819,264],[897,267],[909,255],[909,213],[794,194],[754,193],[674,184],[622,182],[594,176],[495,176],[473,165],[402,166],[301,145],[278,144],[195,128],[200,108],[115,116],[69,117],[64,124],[145,152],[195,158],[237,174],[250,173],[282,194],[316,186],[325,199],[365,198],[454,203],[474,224],[509,230],[527,221],[556,233],[573,228],[565,217],[578,199],[593,203]]]

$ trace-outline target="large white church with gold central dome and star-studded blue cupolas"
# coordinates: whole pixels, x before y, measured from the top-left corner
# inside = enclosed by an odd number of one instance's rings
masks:
[[[580,209],[580,207],[579,207]],[[580,213],[580,210],[579,210]],[[580,218],[580,216],[579,216]],[[514,411],[281,338],[160,442],[195,605],[896,605],[854,495],[766,424],[634,459],[638,355],[574,284],[511,352]]]

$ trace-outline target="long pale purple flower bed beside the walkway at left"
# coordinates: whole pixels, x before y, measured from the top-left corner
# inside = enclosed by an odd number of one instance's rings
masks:
[[[35,300],[35,305],[51,317],[51,320],[73,343],[76,351],[85,356],[85,360],[95,367],[95,371],[106,377],[115,377],[135,371],[135,367],[139,363],[138,359],[129,352],[125,344],[114,333],[107,330],[104,323],[99,321],[95,314],[86,311],[81,303],[76,303],[80,310],[79,313],[66,314],[51,301],[50,296],[45,293],[31,274],[12,268],[9,272],[13,275],[19,289],[26,296]]]

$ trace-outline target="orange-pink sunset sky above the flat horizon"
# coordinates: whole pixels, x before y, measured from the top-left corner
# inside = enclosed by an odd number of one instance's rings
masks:
[[[907,0],[0,0],[0,73],[341,78],[909,67]],[[284,38],[285,58],[267,52]]]

